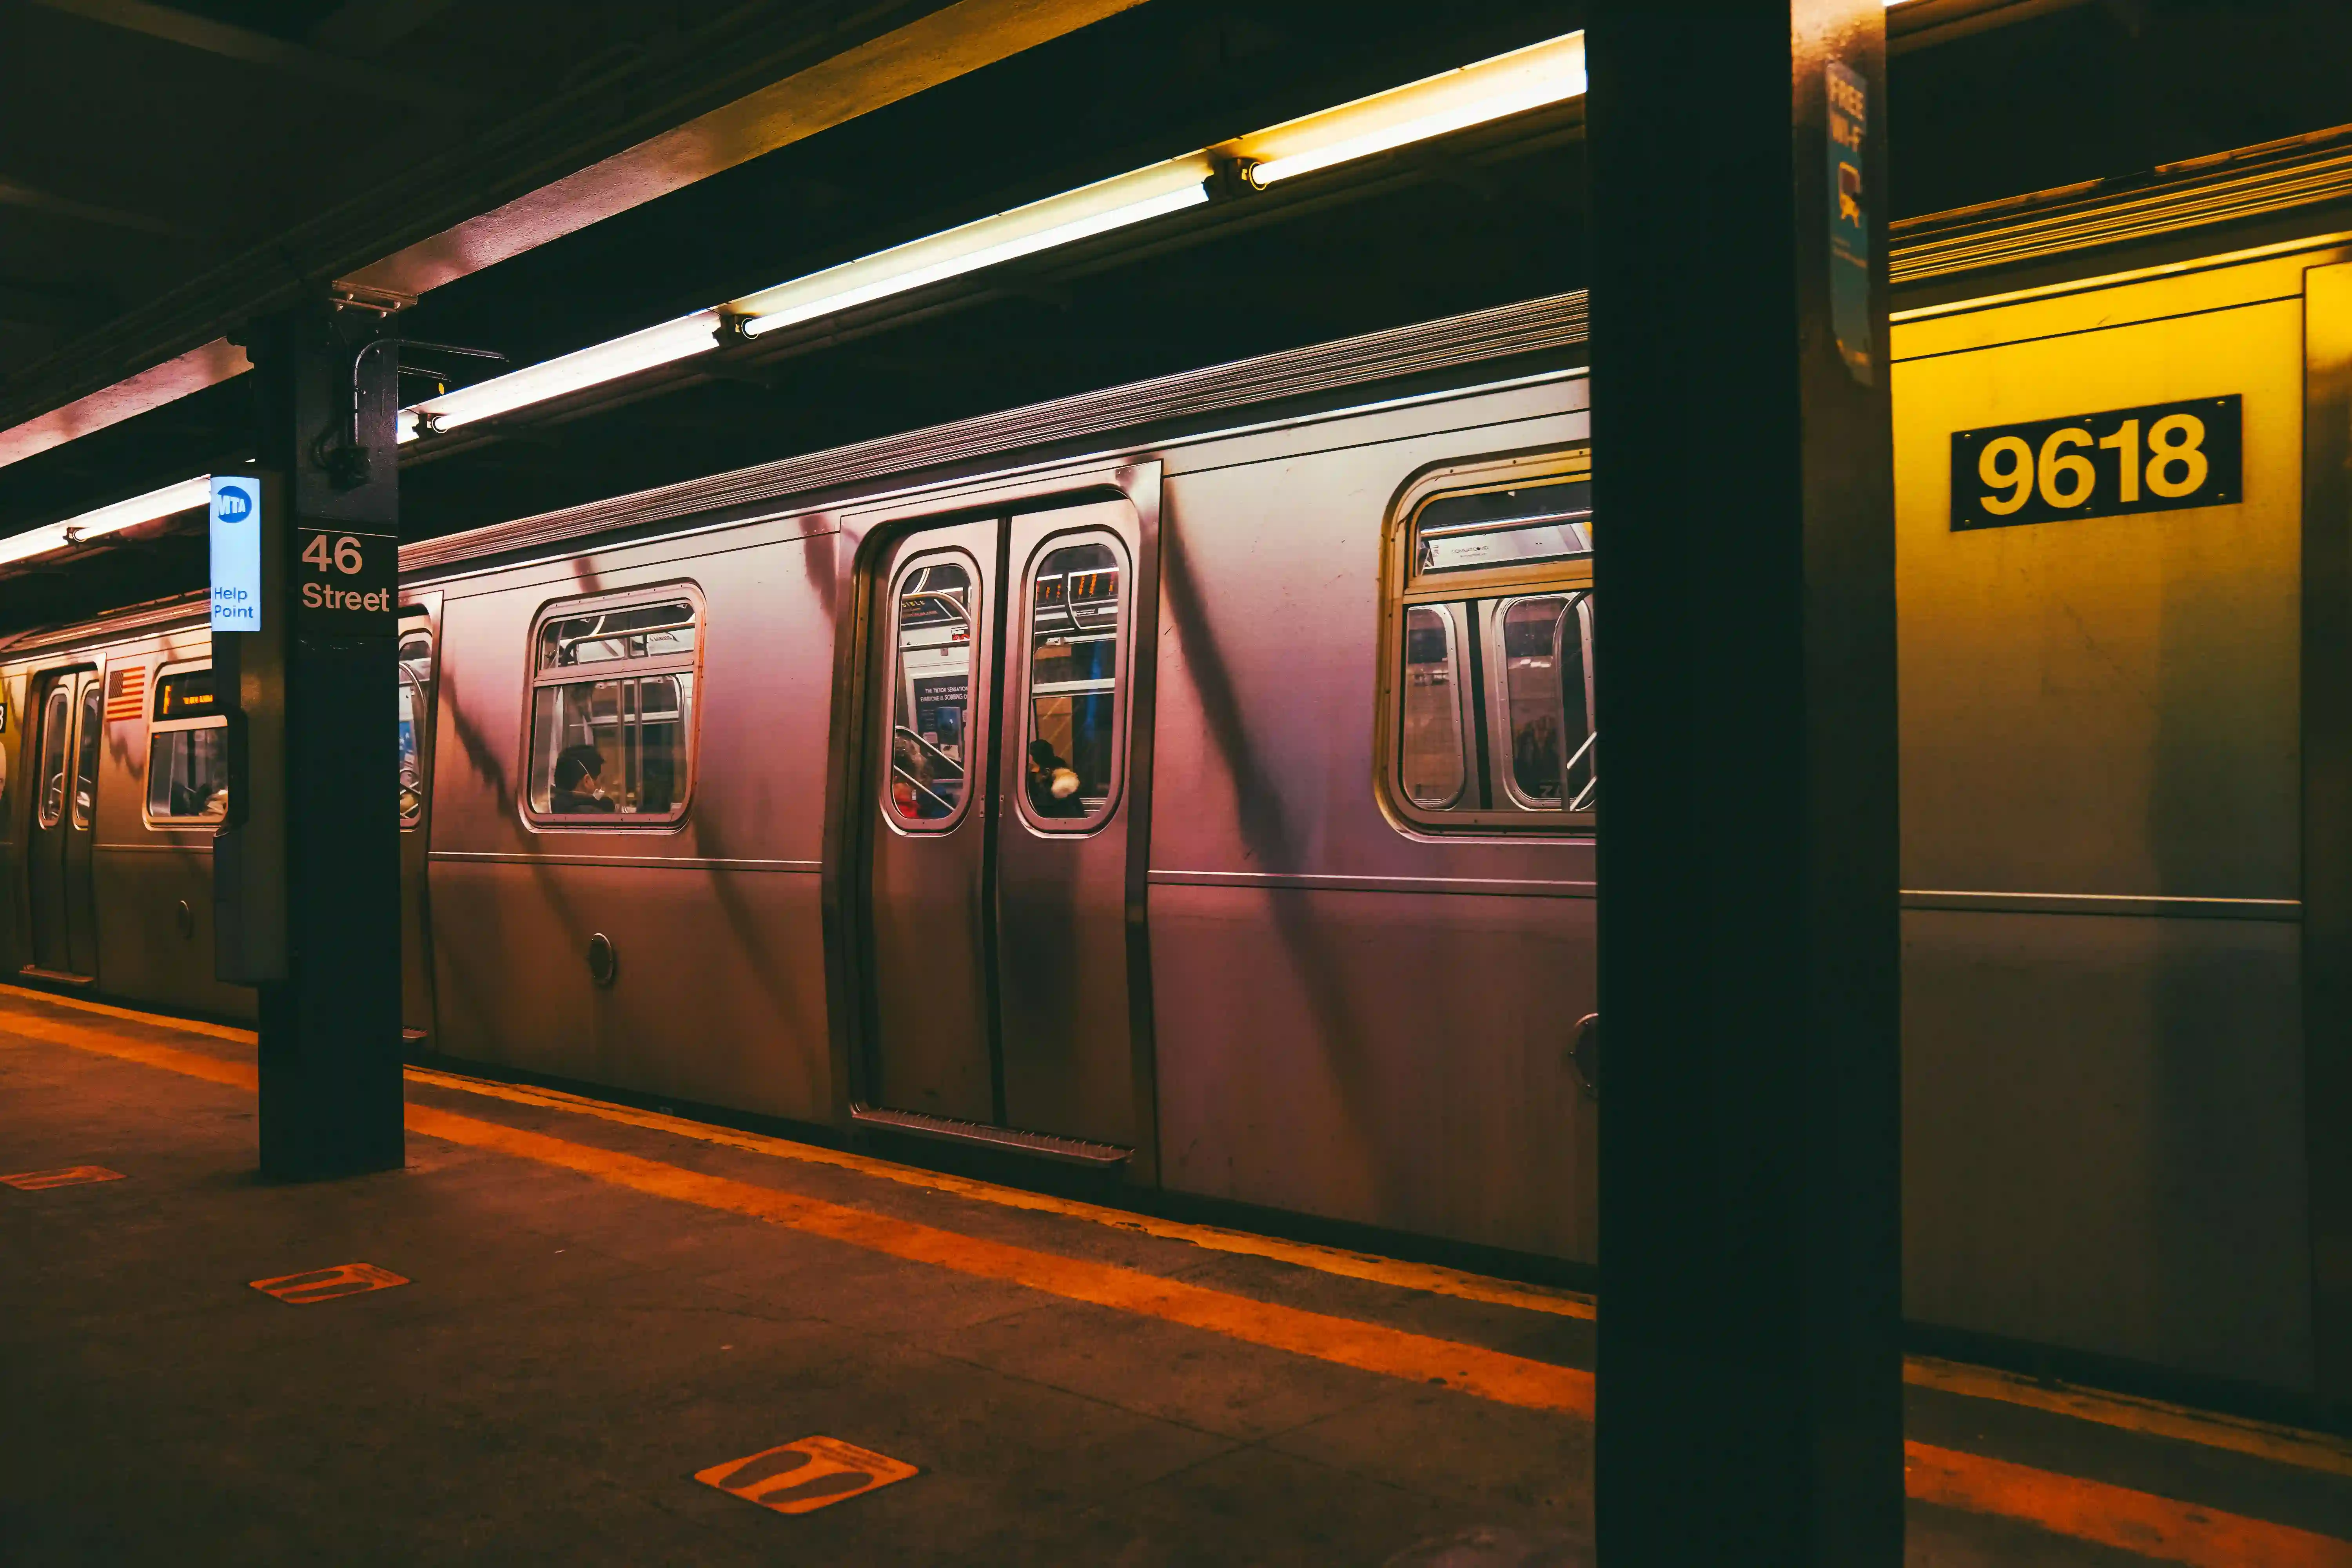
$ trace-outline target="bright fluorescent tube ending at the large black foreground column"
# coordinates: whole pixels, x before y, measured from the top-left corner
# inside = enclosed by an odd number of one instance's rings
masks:
[[[1249,183],[1263,188],[1545,103],[1562,103],[1583,96],[1583,92],[1585,35],[1569,33],[1444,75],[1376,92],[1355,103],[1287,120],[1214,150],[1242,160],[1249,169]]]

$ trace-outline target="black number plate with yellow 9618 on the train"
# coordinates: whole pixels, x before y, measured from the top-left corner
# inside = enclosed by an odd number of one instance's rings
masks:
[[[1952,529],[2232,505],[2244,494],[2239,404],[2197,397],[1955,430]]]

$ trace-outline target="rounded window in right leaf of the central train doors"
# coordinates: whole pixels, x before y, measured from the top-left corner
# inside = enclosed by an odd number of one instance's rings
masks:
[[[1124,581],[1110,536],[1058,543],[1030,574],[1021,809],[1044,832],[1087,830],[1117,799]]]

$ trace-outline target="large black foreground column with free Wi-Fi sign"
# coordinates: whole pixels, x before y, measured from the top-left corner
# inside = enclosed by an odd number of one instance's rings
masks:
[[[1588,35],[1606,1568],[1903,1559],[1879,0]]]

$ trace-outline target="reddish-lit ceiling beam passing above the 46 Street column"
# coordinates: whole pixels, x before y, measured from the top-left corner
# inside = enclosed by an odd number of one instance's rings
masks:
[[[242,374],[221,334],[327,282],[423,294],[1141,2],[898,0],[842,7],[849,19],[816,38],[804,19],[739,7],[694,47],[402,165],[26,367],[0,388],[0,465]],[[120,378],[125,364],[153,369]]]

